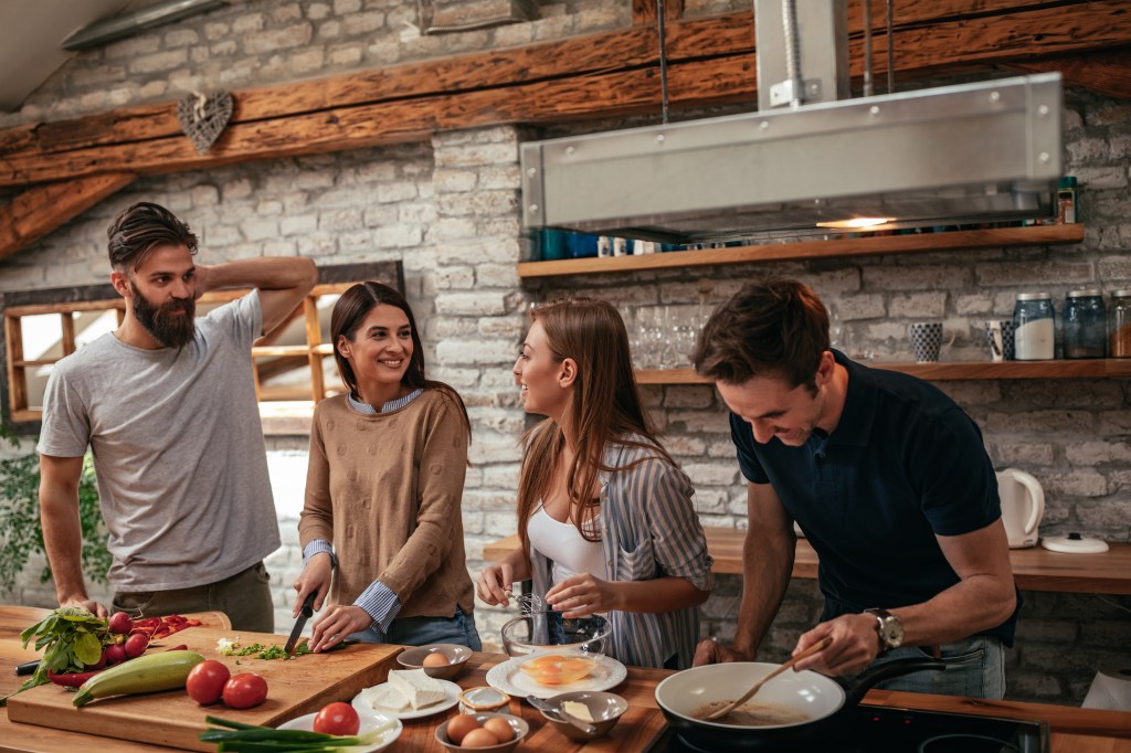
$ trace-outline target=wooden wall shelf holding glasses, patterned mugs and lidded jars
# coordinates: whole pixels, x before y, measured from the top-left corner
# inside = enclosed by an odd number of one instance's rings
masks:
[[[1126,379],[1131,358],[1090,358],[1080,361],[967,361],[941,363],[864,363],[918,376],[931,382],[960,379]],[[640,384],[710,384],[693,369],[640,369]]]

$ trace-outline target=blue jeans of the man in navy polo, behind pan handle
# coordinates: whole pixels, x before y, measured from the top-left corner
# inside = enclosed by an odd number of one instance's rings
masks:
[[[993,635],[974,635],[961,641],[942,646],[942,658],[947,668],[942,672],[915,672],[903,677],[888,680],[877,687],[882,690],[908,691],[912,693],[938,693],[940,695],[962,695],[1001,700],[1005,696],[1005,650],[1001,639]],[[872,663],[873,666],[907,657],[932,657],[930,649],[904,646],[888,651]]]

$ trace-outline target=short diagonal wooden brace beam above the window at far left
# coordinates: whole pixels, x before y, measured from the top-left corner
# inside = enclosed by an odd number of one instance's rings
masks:
[[[40,240],[135,180],[137,175],[132,173],[103,173],[24,191],[0,208],[0,259]]]

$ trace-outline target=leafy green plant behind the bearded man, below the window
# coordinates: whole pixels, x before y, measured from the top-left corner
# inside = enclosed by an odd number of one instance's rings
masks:
[[[19,448],[16,435],[2,422],[0,440]],[[78,508],[83,527],[83,570],[90,581],[105,583],[111,556],[89,455],[83,460]],[[32,452],[0,460],[0,591],[10,594],[16,588],[16,578],[36,553],[44,553],[44,548],[40,526],[40,461]],[[40,581],[50,579],[51,565],[46,564]]]

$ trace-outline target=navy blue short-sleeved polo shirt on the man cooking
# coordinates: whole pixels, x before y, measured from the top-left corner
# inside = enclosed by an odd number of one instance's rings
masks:
[[[923,380],[832,353],[848,371],[848,395],[831,434],[814,431],[802,447],[776,436],[759,444],[731,414],[742,474],[774,485],[820,556],[822,620],[931,599],[959,581],[935,535],[1001,517],[982,432],[953,400]],[[1016,623],[1017,609],[983,634],[1012,646]]]

